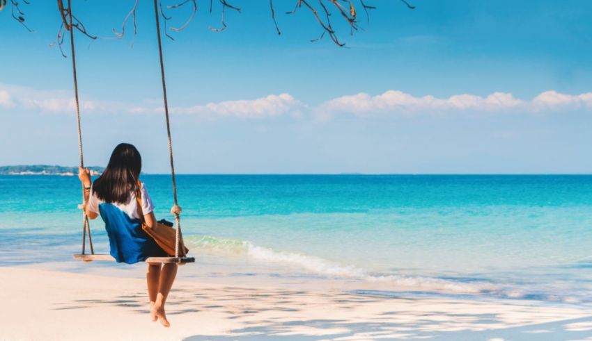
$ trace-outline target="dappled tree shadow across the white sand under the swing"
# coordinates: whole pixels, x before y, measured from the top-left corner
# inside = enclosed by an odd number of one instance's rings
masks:
[[[54,309],[93,306],[148,313],[144,292],[112,300],[75,300]],[[588,311],[517,301],[185,286],[171,292],[167,306],[170,317],[182,316],[185,324],[195,321],[196,331],[200,330],[198,321],[208,319],[208,323],[229,327],[213,335],[189,334],[185,341],[592,340],[592,315]]]

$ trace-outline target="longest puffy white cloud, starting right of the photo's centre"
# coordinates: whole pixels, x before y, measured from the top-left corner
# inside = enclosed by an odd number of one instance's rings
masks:
[[[364,92],[338,97],[323,103],[320,110],[329,112],[348,112],[356,114],[380,111],[416,111],[416,110],[499,110],[524,106],[524,101],[516,99],[510,93],[494,92],[487,97],[474,94],[455,94],[440,99],[431,95],[414,97],[405,92],[389,90],[371,97]]]

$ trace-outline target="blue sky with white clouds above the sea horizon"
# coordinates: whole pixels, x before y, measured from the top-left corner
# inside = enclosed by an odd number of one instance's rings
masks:
[[[122,40],[112,28],[134,1],[72,1],[104,37],[76,38],[86,163],[125,141],[166,172],[152,1]],[[32,2],[33,33],[0,12],[0,165],[76,165],[70,59],[48,46],[59,13]],[[164,40],[179,172],[592,172],[591,1],[366,2],[377,9],[369,24],[359,9],[353,36],[333,16],[343,49],[310,42],[311,13],[284,14],[295,1],[275,1],[282,35],[267,1],[232,1],[242,12],[221,33],[219,4],[198,1]]]

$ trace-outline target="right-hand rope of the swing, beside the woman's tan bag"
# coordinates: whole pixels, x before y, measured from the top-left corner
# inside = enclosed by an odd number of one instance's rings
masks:
[[[175,179],[175,164],[173,163],[173,142],[171,139],[171,123],[169,122],[169,102],[166,99],[166,82],[164,81],[164,61],[162,60],[162,41],[160,38],[160,22],[158,17],[158,0],[154,0],[154,13],[156,16],[156,34],[158,38],[158,54],[160,58],[160,77],[162,79],[162,97],[164,99],[164,117],[166,118],[166,135],[169,138],[169,160],[171,161],[171,179],[173,181],[173,201],[174,205],[171,208],[171,214],[175,216],[175,257],[179,258],[180,250],[182,249],[183,237],[181,233],[180,214],[181,208],[177,201],[177,183]],[[183,251],[182,253],[185,253]],[[185,256],[182,254],[181,256]]]

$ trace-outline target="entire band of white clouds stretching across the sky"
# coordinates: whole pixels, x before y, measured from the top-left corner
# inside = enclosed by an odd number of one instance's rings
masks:
[[[134,113],[146,115],[162,113],[157,101],[146,99],[138,103],[116,101],[94,101],[81,97],[81,113]],[[18,85],[0,83],[0,110],[18,108],[46,113],[75,113],[75,100],[70,90],[36,90]],[[292,95],[270,94],[258,99],[211,102],[202,105],[172,107],[171,113],[195,115],[215,119],[217,117],[238,117],[263,119],[290,114],[302,118],[302,110],[309,108]],[[533,99],[519,99],[509,92],[493,92],[487,96],[476,94],[454,94],[439,98],[433,95],[415,97],[398,90],[389,90],[376,96],[359,94],[336,97],[309,108],[313,119],[326,121],[334,113],[354,115],[371,114],[413,114],[413,113],[500,113],[520,110],[536,113],[544,110],[589,110],[592,108],[592,92],[582,94],[561,94],[554,90],[542,92]]]

